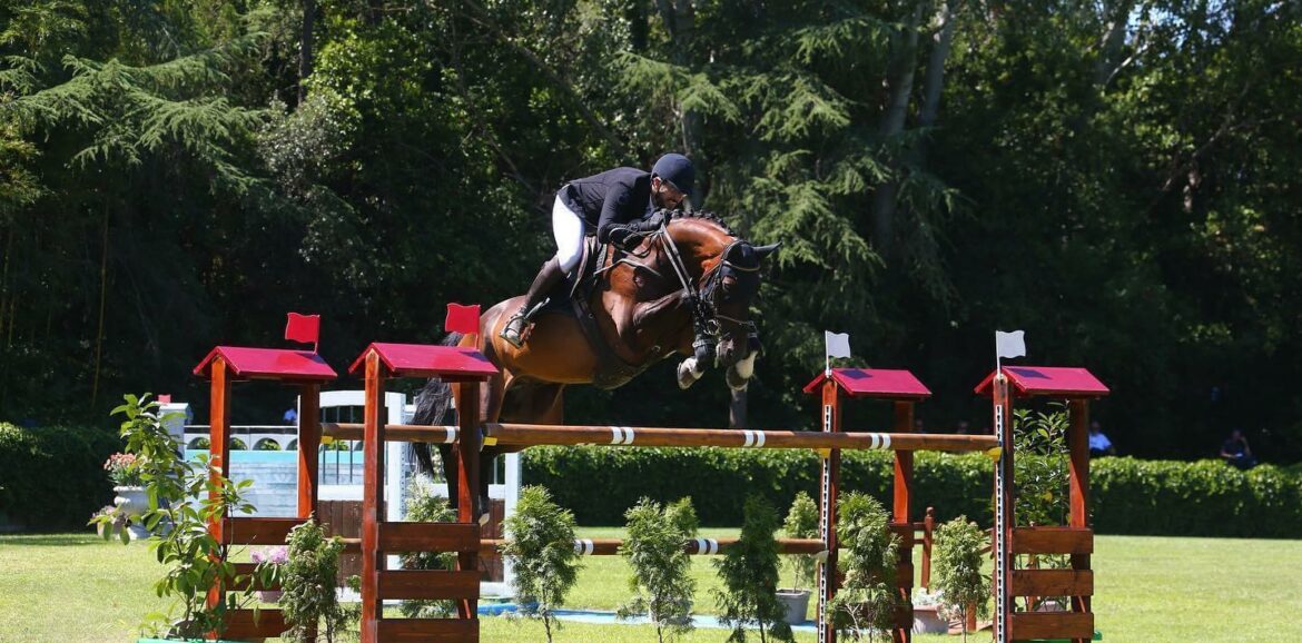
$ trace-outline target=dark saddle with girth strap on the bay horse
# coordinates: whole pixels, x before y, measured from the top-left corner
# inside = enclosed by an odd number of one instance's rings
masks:
[[[624,254],[622,250],[611,243],[600,243],[596,236],[585,237],[583,254],[578,266],[565,276],[565,281],[547,293],[547,301],[539,311],[569,315],[578,322],[579,328],[583,329],[583,337],[592,348],[592,354],[596,355],[592,385],[603,389],[622,387],[651,366],[650,362],[641,366],[630,364],[617,355],[596,327],[596,318],[589,305],[598,285]]]

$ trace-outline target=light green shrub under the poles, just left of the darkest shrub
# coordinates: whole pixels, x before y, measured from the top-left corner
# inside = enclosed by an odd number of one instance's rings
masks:
[[[620,607],[618,617],[650,613],[660,643],[667,635],[672,639],[691,631],[691,596],[697,582],[691,578],[691,557],[682,548],[684,541],[697,536],[699,527],[691,499],[661,508],[644,497],[624,517],[628,536],[620,554],[633,570],[629,579],[633,599]]]

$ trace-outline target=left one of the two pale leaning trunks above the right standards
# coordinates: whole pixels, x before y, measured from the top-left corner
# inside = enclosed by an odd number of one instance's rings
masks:
[[[900,49],[892,56],[893,61],[887,73],[887,86],[891,87],[891,92],[880,128],[883,141],[889,141],[904,131],[904,122],[909,115],[909,95],[913,94],[913,72],[917,66],[914,60],[918,52],[918,23],[927,4],[918,3],[914,7],[913,16],[909,17],[909,23],[901,34]],[[878,186],[876,194],[872,195],[872,243],[883,258],[892,253],[894,241],[896,198],[900,193],[898,176],[904,171],[902,159],[896,159],[892,165],[896,178]]]

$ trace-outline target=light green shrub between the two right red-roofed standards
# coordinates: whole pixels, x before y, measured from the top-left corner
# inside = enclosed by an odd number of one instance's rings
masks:
[[[984,618],[990,612],[990,577],[982,573],[987,532],[960,515],[936,528],[934,573],[941,604],[962,623],[967,640],[967,617],[975,610]]]

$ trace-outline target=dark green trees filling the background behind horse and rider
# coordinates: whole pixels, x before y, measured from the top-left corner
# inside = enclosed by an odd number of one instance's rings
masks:
[[[336,366],[436,340],[444,302],[523,290],[565,180],[680,150],[698,204],[785,243],[751,423],[809,417],[832,328],[940,393],[928,426],[979,426],[991,332],[1025,328],[1029,361],[1113,388],[1121,453],[1237,426],[1297,461],[1298,25],[1277,0],[3,0],[0,418],[98,422],[141,387],[202,418],[190,368],[279,344],[286,310],[324,315]],[[725,422],[717,376],[671,381],[569,417]]]

